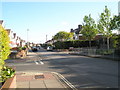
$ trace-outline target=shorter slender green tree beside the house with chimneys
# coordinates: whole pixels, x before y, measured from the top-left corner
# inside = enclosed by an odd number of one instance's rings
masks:
[[[97,34],[97,29],[96,29],[96,24],[93,18],[91,18],[91,15],[85,16],[83,18],[83,26],[81,30],[81,34],[83,37],[85,37],[87,40],[89,40],[89,46],[91,48],[91,40],[96,36]]]

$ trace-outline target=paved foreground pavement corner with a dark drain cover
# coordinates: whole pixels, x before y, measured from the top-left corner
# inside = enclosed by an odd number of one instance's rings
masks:
[[[70,89],[55,73],[22,72],[16,73],[17,88],[39,88],[39,89]],[[72,89],[72,88],[71,88]]]

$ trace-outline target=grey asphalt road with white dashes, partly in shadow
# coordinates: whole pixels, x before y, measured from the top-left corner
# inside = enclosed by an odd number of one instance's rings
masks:
[[[117,88],[118,61],[41,49],[22,62],[8,63],[17,72],[57,72],[76,88]]]

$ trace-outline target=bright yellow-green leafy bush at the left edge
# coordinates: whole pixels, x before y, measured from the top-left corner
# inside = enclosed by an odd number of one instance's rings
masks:
[[[8,58],[9,54],[10,54],[10,46],[9,46],[8,33],[0,25],[0,72],[5,64],[4,60]]]

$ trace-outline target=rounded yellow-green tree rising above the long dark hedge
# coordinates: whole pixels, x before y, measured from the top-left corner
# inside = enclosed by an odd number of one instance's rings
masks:
[[[72,37],[73,37],[72,33],[60,31],[53,37],[53,39],[58,41],[64,41],[64,40],[70,40]]]

